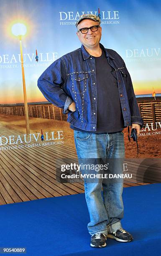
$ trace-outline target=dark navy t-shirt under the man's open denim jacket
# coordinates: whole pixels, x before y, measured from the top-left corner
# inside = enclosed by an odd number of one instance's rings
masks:
[[[95,58],[97,77],[97,130],[92,133],[114,133],[124,128],[123,114],[115,72],[108,63],[105,51]],[[72,125],[70,128],[84,131]],[[84,131],[85,132],[85,131]]]

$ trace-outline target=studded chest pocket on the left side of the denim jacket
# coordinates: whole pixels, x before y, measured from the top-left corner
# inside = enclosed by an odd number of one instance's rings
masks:
[[[72,74],[72,91],[77,94],[83,94],[87,91],[87,82],[89,79],[88,74],[86,73],[78,73]]]

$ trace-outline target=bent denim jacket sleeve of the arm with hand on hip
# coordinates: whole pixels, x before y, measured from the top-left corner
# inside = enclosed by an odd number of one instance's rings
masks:
[[[66,70],[61,58],[54,61],[38,78],[38,88],[43,96],[57,107],[63,108],[63,113],[67,114],[73,100],[61,89],[65,83]]]

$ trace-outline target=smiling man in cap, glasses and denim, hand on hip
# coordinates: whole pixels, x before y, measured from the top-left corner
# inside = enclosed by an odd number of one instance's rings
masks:
[[[81,15],[76,26],[81,48],[54,61],[38,79],[38,87],[47,100],[68,113],[80,163],[84,159],[123,159],[123,129],[132,125],[139,134],[143,126],[130,74],[123,59],[100,44],[98,16]],[[123,166],[113,161],[110,171],[121,174]],[[107,238],[132,241],[120,223],[123,181],[84,179],[84,190],[90,245],[105,247]]]

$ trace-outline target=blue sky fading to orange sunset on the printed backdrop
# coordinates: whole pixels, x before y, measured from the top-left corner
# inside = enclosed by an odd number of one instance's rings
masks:
[[[135,94],[151,94],[153,87],[161,93],[160,0],[100,0],[97,4],[96,0],[0,0],[0,104],[23,102],[19,41],[10,32],[11,24],[21,20],[27,25],[22,41],[27,99],[39,102],[45,98],[38,90],[38,77],[54,59],[80,47],[72,24],[77,12],[95,12],[98,7],[104,22],[101,43],[123,57]]]

